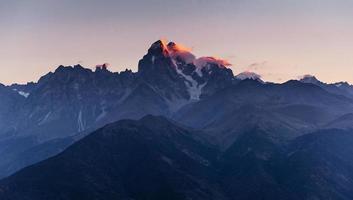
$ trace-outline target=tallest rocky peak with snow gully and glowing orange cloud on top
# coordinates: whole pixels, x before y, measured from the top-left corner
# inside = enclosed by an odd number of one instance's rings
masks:
[[[169,100],[197,101],[232,84],[233,73],[212,57],[196,59],[187,49],[165,41],[155,42],[139,62],[143,80]]]

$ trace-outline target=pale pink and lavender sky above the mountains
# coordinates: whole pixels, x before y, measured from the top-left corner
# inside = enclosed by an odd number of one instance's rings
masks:
[[[353,83],[352,0],[0,0],[0,83],[59,65],[137,70],[160,39],[266,81]]]

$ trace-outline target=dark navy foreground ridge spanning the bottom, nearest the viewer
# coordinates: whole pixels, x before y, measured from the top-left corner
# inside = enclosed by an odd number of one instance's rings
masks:
[[[163,117],[105,126],[0,182],[4,200],[351,199],[352,132],[285,145],[253,129],[220,151]]]

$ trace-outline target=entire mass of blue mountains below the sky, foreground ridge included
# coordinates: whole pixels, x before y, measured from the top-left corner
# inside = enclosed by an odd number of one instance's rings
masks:
[[[353,86],[228,65],[157,41],[138,72],[0,85],[0,177],[32,165],[0,199],[352,199]]]

